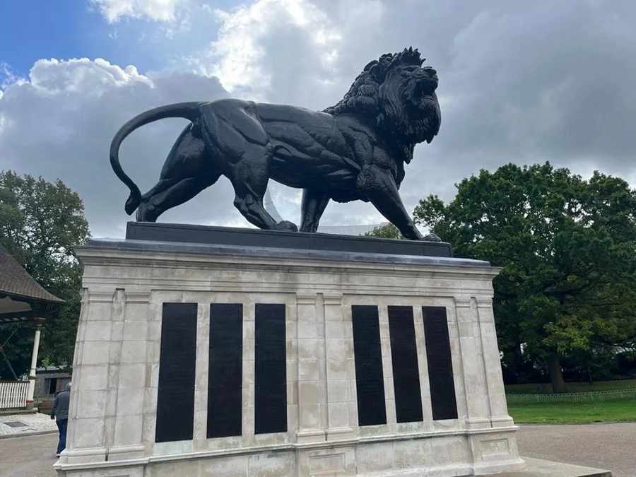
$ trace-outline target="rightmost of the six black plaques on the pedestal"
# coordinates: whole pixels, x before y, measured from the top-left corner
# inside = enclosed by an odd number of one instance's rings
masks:
[[[457,419],[457,396],[445,307],[422,307],[433,420]]]

